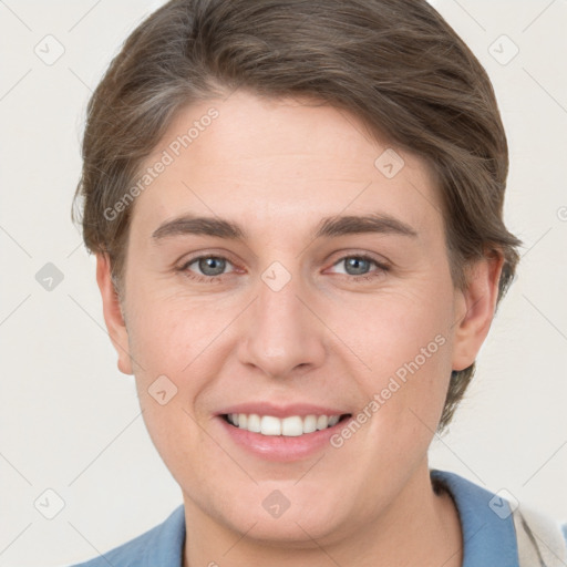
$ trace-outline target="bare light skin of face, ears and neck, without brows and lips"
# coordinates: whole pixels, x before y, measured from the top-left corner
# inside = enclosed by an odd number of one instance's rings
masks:
[[[237,91],[188,106],[146,165],[212,106],[219,117],[136,198],[122,306],[107,258],[97,256],[118,368],[135,374],[150,435],[183,492],[184,567],[462,565],[458,515],[432,489],[427,447],[451,371],[475,360],[488,332],[502,256],[478,261],[456,290],[426,164],[394,148],[405,165],[386,178],[374,161],[392,146],[370,140],[353,116],[306,100]],[[309,236],[322,217],[378,210],[417,238]],[[154,243],[152,233],[182,213],[237,221],[250,238]],[[363,276],[344,258],[360,252],[391,269],[369,262],[362,270],[378,276],[357,284]],[[199,262],[176,270],[199,254],[228,259],[217,281],[188,278],[212,274]],[[261,279],[274,261],[291,275],[279,291]],[[445,343],[340,449],[267,462],[214,417],[251,400],[355,413],[437,334]],[[148,394],[162,374],[177,388],[165,405]],[[278,518],[261,505],[274,489],[290,502]]]

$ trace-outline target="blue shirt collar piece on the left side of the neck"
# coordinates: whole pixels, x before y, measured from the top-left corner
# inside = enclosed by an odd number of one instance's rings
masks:
[[[130,542],[71,567],[179,567],[185,543],[185,511],[178,506],[162,524]]]

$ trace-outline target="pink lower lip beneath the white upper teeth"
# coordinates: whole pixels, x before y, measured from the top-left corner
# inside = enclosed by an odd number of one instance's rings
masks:
[[[297,436],[262,435],[248,430],[241,430],[230,425],[224,417],[217,415],[223,429],[238,445],[247,449],[252,454],[267,461],[289,462],[298,461],[313,455],[318,451],[330,445],[330,437],[338,433],[352,419],[342,419],[332,427],[305,433]]]

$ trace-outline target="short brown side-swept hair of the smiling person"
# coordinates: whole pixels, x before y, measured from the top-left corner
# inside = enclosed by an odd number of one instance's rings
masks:
[[[499,303],[523,244],[503,221],[506,136],[485,70],[425,0],[172,0],[143,21],[89,101],[75,194],[86,248],[109,255],[121,297],[134,207],[112,220],[104,212],[182,106],[237,87],[330,104],[421,156],[441,194],[455,287],[496,250]],[[439,431],[474,370],[453,371]]]

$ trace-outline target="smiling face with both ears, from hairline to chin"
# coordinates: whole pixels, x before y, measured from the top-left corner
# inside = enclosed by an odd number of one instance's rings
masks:
[[[362,132],[307,101],[192,105],[146,159],[162,172],[133,205],[125,326],[99,258],[118,365],[186,506],[260,538],[354,532],[409,489],[489,326],[497,270],[453,288],[425,164]],[[343,417],[298,435],[326,413]]]

